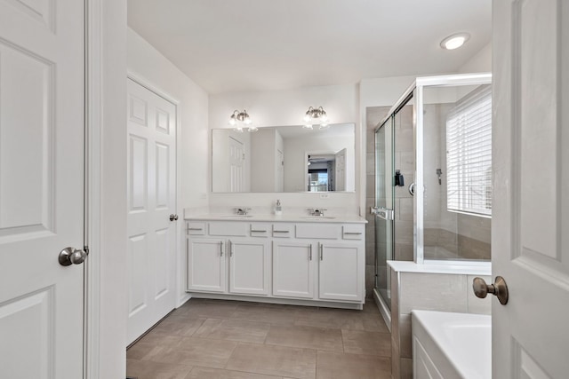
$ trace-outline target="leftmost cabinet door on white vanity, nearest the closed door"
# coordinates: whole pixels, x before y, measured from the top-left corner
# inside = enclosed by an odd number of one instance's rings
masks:
[[[225,242],[188,238],[188,290],[226,292]]]

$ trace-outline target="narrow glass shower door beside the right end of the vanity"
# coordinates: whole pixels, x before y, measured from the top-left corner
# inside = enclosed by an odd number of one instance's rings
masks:
[[[375,131],[375,288],[391,305],[387,261],[393,259],[393,116]]]

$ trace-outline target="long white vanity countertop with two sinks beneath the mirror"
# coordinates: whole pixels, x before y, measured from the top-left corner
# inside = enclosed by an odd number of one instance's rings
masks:
[[[283,212],[284,213],[284,212]],[[204,213],[204,214],[185,214],[185,220],[204,220],[204,221],[251,221],[251,222],[288,222],[288,223],[340,223],[340,224],[366,224],[364,217],[357,215],[338,215],[326,214],[324,217],[309,216],[307,214],[283,214],[281,216],[270,214],[254,214],[247,216],[237,216],[230,213]]]

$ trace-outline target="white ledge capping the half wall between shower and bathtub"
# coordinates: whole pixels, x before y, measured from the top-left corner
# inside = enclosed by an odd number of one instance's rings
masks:
[[[388,261],[388,265],[396,272],[492,275],[491,262],[448,261],[448,263],[440,263],[440,261],[437,261],[437,263],[424,263],[419,265],[408,261]]]

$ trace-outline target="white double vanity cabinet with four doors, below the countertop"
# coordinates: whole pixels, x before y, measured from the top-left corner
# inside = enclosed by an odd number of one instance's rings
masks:
[[[364,232],[363,223],[188,221],[187,289],[361,309]]]

